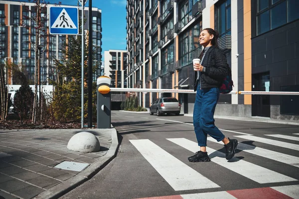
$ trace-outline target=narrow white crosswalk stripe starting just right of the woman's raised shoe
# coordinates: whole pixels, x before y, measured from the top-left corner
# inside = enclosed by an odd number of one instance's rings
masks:
[[[256,136],[253,136],[253,135],[235,135],[234,137],[240,137],[240,138],[247,139],[247,140],[262,142],[262,143],[266,143],[266,144],[270,144],[270,145],[275,145],[275,146],[278,146],[278,147],[284,147],[284,148],[299,151],[299,145],[298,144],[292,144],[292,143],[267,139],[267,138],[263,138],[263,137],[256,137]]]

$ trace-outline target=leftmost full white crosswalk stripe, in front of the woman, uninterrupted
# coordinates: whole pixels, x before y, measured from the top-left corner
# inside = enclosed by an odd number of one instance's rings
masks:
[[[130,140],[130,142],[175,191],[219,187],[150,140]]]

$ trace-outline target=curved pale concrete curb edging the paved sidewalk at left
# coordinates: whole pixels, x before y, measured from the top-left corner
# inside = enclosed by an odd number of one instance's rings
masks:
[[[33,199],[58,199],[59,197],[70,192],[74,188],[83,184],[87,180],[91,179],[95,174],[102,170],[109,162],[111,162],[117,154],[119,148],[119,142],[117,137],[117,131],[112,127],[111,130],[111,146],[106,155],[100,158],[98,161],[91,164],[87,169],[82,171],[79,175],[74,176],[51,189],[44,191]]]

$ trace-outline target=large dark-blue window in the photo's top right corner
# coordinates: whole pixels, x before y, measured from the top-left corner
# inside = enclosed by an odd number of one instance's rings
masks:
[[[257,0],[257,35],[299,19],[298,0]]]

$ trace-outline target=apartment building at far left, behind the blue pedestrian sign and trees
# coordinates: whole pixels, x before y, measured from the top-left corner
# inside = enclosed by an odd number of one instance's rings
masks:
[[[62,2],[64,3],[64,2]],[[30,21],[24,16],[35,16],[35,3],[0,0],[0,64],[5,61],[19,65],[25,68],[25,75],[31,83],[34,81],[35,70],[35,55],[32,43],[35,43],[35,29],[31,28],[35,25],[34,21]],[[45,25],[49,27],[49,7],[53,4],[48,4],[47,10],[41,13],[42,17],[46,17]],[[65,5],[64,7],[78,7],[74,5]],[[102,26],[101,18],[102,11],[93,7],[92,12],[92,30],[88,30],[88,7],[84,8],[84,15],[87,21],[84,25],[86,33],[91,31],[93,45],[97,46],[96,58],[94,62],[101,62],[102,56]],[[79,19],[81,18],[81,7],[79,7]],[[23,20],[23,22],[22,22]],[[24,25],[30,25],[29,29]],[[49,80],[55,80],[57,76],[56,67],[54,66],[54,58],[59,59],[62,56],[62,44],[67,41],[68,35],[49,34],[49,29],[45,30],[45,36],[40,39],[41,51],[41,82],[43,85],[49,85]],[[31,36],[30,36],[31,33]],[[80,36],[80,35],[79,35]],[[8,71],[9,73],[9,71]],[[93,81],[101,73],[101,64],[98,70],[93,74]],[[16,80],[9,76],[8,85],[15,85]],[[29,81],[30,82],[30,81]]]

